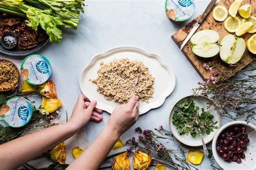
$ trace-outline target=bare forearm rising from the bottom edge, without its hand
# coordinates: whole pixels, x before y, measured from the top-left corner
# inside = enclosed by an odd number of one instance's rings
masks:
[[[68,169],[99,169],[112,147],[120,137],[116,130],[106,126],[95,141],[79,156]]]

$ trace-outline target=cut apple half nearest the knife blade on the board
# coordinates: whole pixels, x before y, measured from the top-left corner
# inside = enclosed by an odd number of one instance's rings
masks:
[[[210,58],[219,53],[217,44],[219,34],[213,30],[202,30],[194,34],[190,39],[192,52],[203,58]]]

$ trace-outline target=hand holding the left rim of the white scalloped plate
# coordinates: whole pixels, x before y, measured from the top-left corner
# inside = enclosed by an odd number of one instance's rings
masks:
[[[90,100],[83,94],[78,95],[77,103],[73,108],[73,112],[68,123],[74,125],[77,129],[80,129],[90,120],[96,122],[102,121],[103,117],[99,114],[102,114],[103,111],[95,108],[96,104],[96,101],[90,102]]]

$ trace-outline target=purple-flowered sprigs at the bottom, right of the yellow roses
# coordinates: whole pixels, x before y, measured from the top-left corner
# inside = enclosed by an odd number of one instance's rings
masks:
[[[170,131],[163,129],[163,126],[160,126],[159,129],[154,129],[158,133],[154,133],[152,130],[144,130],[136,128],[136,132],[140,133],[138,136],[139,142],[133,137],[126,141],[127,145],[130,145],[130,149],[127,150],[129,155],[132,155],[133,148],[138,151],[149,153],[153,160],[164,162],[165,165],[174,168],[174,169],[197,169],[188,163],[185,157],[184,148],[178,146],[177,148],[167,148],[160,143],[158,139],[164,139],[168,141],[177,142],[177,139],[173,137]],[[142,135],[143,136],[142,136]],[[141,145],[142,144],[142,145]]]

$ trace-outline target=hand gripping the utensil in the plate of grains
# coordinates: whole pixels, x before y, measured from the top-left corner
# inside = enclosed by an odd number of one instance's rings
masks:
[[[116,107],[107,122],[107,127],[112,132],[116,132],[121,136],[124,132],[129,130],[131,126],[139,118],[139,102],[133,94],[129,102]]]

